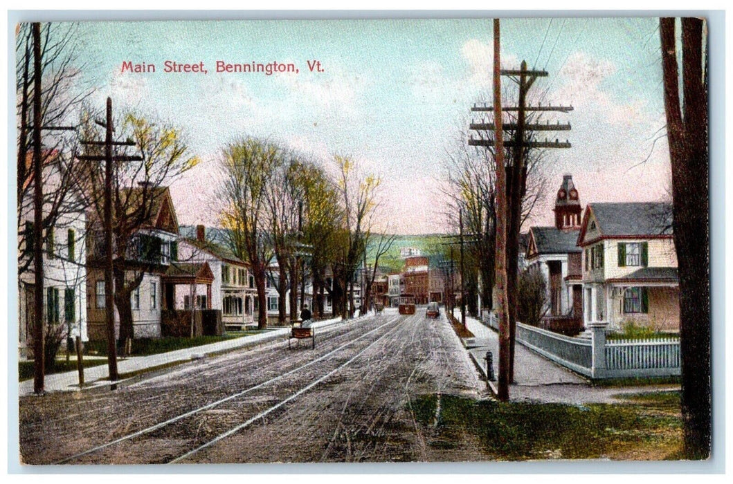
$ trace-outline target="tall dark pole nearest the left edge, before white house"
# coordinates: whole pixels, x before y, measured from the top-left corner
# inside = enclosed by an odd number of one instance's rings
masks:
[[[43,187],[41,176],[41,24],[33,24],[33,391],[43,393]]]

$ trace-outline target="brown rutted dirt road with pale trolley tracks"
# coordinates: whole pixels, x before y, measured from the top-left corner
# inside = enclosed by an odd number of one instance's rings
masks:
[[[24,463],[474,461],[432,442],[419,395],[485,384],[444,318],[378,316],[180,365],[118,390],[21,398]],[[439,409],[436,419],[439,417]]]

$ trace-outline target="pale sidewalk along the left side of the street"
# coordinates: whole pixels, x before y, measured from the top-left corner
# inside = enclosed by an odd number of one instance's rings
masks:
[[[314,328],[328,327],[341,322],[341,318],[326,319],[325,321],[317,321],[313,324]],[[125,360],[117,360],[117,371],[119,374],[144,371],[163,365],[174,365],[177,363],[188,362],[211,356],[213,354],[232,351],[235,349],[246,348],[248,346],[257,346],[263,343],[269,343],[273,340],[284,339],[290,328],[281,327],[275,330],[261,333],[259,335],[243,336],[242,338],[234,338],[231,340],[219,341],[203,346],[194,346],[192,348],[177,349],[168,353],[151,354],[145,357],[130,357]],[[98,365],[90,368],[84,368],[84,388],[101,387],[110,384],[107,380],[109,376],[107,365]],[[125,379],[119,379],[125,381]],[[78,390],[79,379],[76,371],[67,371],[65,373],[54,373],[46,375],[44,380],[45,392],[68,392]],[[33,379],[21,381],[18,388],[18,396],[33,395]]]

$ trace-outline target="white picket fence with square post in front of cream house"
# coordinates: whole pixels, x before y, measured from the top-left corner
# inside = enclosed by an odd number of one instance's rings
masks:
[[[498,330],[496,315],[484,319]],[[591,338],[570,338],[517,323],[517,341],[554,362],[593,379],[680,374],[679,338],[607,340],[605,324],[589,328]]]

